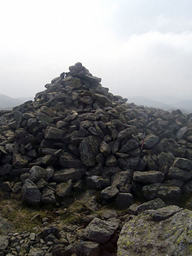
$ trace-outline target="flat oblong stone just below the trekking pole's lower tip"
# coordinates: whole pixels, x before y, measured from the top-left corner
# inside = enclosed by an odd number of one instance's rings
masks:
[[[133,181],[142,184],[151,184],[156,182],[162,182],[164,180],[164,174],[158,171],[147,171],[147,172],[134,172]]]

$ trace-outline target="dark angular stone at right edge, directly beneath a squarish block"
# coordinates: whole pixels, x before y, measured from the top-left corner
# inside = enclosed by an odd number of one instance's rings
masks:
[[[169,179],[180,179],[180,180],[183,180],[183,181],[186,181],[188,179],[190,179],[192,176],[192,172],[188,172],[186,170],[182,170],[182,169],[179,169],[177,167],[170,167],[169,168],[169,171],[168,171],[168,174],[167,174],[167,177]]]

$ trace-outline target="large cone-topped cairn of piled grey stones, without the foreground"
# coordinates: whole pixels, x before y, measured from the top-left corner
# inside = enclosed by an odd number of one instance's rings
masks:
[[[102,204],[178,200],[192,192],[192,114],[126,103],[77,63],[34,101],[0,112],[0,180],[29,204],[64,205],[100,191]],[[146,119],[147,136],[138,165]]]

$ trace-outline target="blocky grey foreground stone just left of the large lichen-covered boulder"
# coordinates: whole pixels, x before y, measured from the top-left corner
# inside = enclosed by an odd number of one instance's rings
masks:
[[[117,223],[94,218],[84,229],[83,236],[90,241],[104,244],[110,240],[117,228]]]

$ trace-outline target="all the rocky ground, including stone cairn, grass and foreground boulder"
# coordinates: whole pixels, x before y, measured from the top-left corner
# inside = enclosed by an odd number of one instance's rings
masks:
[[[192,255],[192,114],[69,70],[0,111],[0,256]]]

